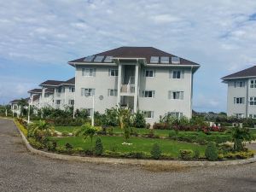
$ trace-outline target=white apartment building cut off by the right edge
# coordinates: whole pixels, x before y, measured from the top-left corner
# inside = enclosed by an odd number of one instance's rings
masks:
[[[227,114],[256,119],[256,66],[222,78],[228,84]]]

